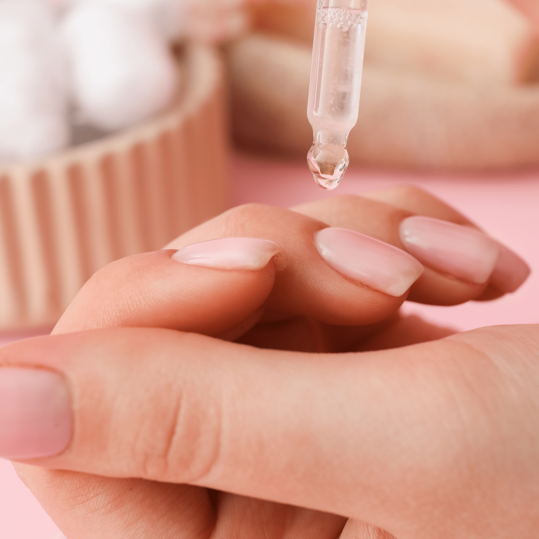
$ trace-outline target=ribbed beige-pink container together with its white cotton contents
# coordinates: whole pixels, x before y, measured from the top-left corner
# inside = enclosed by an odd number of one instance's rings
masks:
[[[50,329],[99,268],[227,208],[213,45],[243,4],[0,0],[0,331]]]

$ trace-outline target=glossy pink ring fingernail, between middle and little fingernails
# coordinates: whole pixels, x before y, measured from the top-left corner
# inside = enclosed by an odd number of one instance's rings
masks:
[[[482,284],[500,258],[500,246],[478,230],[432,217],[408,217],[400,223],[406,251],[425,266]]]

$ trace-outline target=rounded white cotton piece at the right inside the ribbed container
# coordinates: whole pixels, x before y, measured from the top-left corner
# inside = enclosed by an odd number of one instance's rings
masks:
[[[105,2],[80,2],[66,13],[60,31],[81,121],[121,129],[174,99],[174,58],[140,17]]]

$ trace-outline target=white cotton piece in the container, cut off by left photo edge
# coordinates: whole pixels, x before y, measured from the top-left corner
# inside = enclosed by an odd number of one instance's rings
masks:
[[[37,157],[69,140],[63,56],[52,13],[0,2],[0,160]]]

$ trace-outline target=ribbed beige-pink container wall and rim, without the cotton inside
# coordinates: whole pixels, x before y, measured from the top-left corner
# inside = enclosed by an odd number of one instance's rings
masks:
[[[53,324],[97,269],[226,208],[222,66],[192,45],[181,63],[181,95],[156,118],[0,167],[0,330]]]

